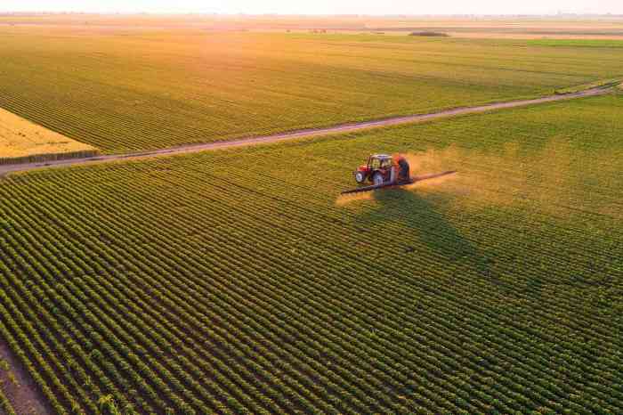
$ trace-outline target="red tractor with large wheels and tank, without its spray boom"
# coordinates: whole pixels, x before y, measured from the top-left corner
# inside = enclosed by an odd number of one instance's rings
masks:
[[[408,183],[410,179],[409,163],[401,155],[374,154],[368,158],[368,164],[355,171],[355,181],[360,184],[368,181],[381,186]]]

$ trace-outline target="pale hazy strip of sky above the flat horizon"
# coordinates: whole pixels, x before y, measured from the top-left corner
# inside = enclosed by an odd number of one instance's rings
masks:
[[[0,11],[282,14],[623,14],[623,0],[0,0]]]

